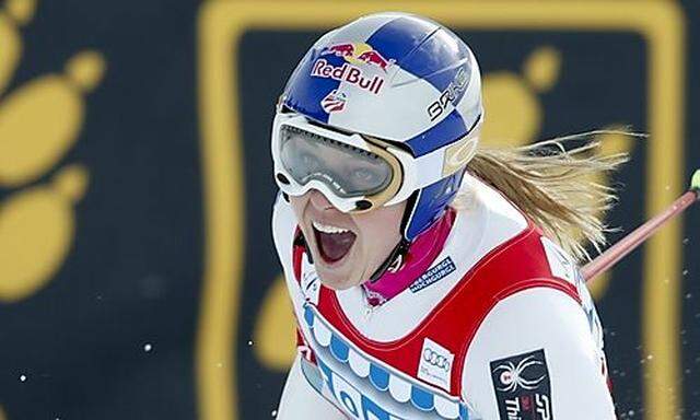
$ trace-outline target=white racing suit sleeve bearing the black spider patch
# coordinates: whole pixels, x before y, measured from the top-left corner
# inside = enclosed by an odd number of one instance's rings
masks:
[[[467,351],[463,398],[483,420],[615,419],[604,366],[579,302],[533,288],[485,317]]]

